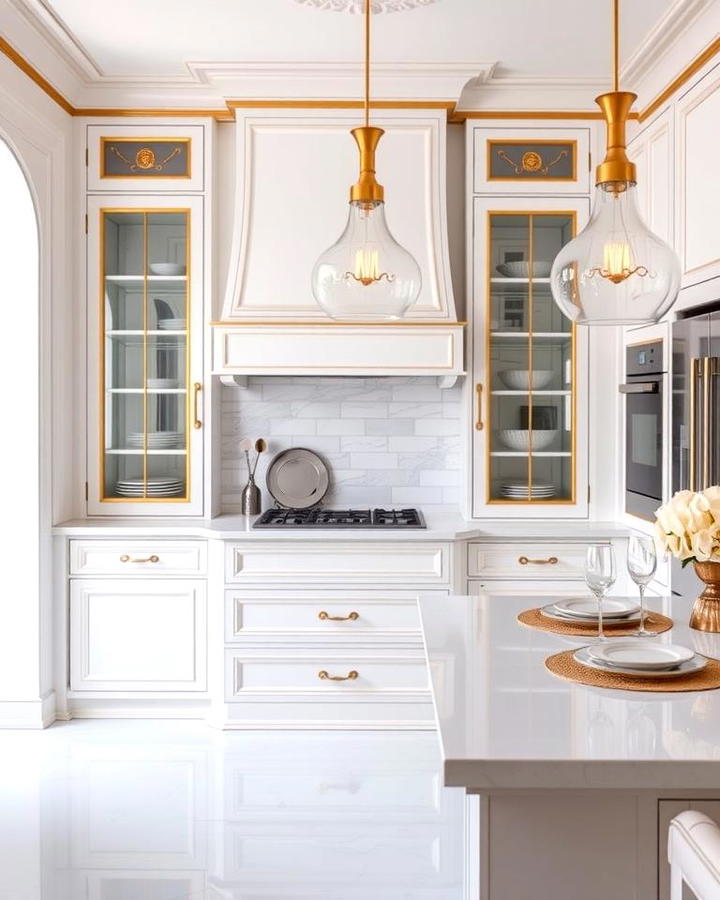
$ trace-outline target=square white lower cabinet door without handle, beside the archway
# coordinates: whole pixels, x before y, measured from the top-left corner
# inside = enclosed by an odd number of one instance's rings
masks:
[[[206,616],[198,579],[72,580],[71,690],[206,690]]]

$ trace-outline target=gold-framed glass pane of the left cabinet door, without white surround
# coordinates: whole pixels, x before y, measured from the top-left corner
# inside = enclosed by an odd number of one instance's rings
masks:
[[[187,502],[187,209],[101,210],[101,499]]]

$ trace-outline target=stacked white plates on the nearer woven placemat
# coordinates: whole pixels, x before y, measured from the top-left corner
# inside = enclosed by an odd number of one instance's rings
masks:
[[[636,678],[677,678],[705,668],[707,659],[679,644],[647,639],[613,640],[583,647],[577,662],[591,669]]]

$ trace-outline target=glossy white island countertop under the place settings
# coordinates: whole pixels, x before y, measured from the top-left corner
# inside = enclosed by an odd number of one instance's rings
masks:
[[[588,640],[520,625],[533,596],[420,600],[445,781],[478,790],[720,787],[720,691],[586,687],[544,666]],[[687,627],[691,601],[649,604],[676,626],[648,640],[720,658],[720,634]]]

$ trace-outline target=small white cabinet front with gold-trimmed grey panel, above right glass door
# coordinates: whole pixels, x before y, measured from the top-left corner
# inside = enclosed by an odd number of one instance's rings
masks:
[[[587,194],[591,184],[589,126],[471,129],[473,193]],[[563,152],[569,150],[569,174]],[[502,154],[500,159],[498,154]]]

